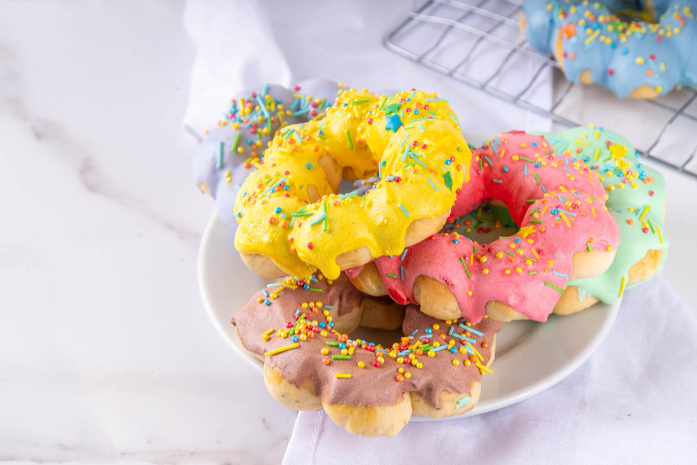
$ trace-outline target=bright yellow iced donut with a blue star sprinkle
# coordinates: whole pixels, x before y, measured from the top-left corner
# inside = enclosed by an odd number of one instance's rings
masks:
[[[335,279],[434,234],[467,181],[471,153],[447,100],[343,91],[323,119],[277,130],[238,193],[235,245],[260,275]],[[372,189],[337,194],[346,179]]]

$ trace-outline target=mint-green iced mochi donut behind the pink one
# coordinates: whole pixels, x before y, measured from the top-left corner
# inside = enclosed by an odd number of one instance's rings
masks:
[[[602,275],[569,280],[554,312],[578,312],[598,300],[614,303],[625,289],[649,280],[663,266],[668,252],[663,226],[666,181],[643,165],[629,141],[615,132],[589,125],[544,137],[556,151],[582,160],[599,174],[608,192],[606,206],[622,234],[610,268]]]

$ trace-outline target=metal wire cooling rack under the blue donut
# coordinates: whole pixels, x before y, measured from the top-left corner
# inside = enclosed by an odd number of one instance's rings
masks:
[[[641,155],[697,178],[696,89],[652,100],[620,100],[601,86],[568,82],[559,63],[535,51],[521,35],[522,6],[523,0],[430,0],[408,13],[385,37],[385,45],[438,73],[548,116],[555,126],[592,122],[612,128],[633,141]],[[521,66],[528,73],[516,71]],[[516,73],[515,79],[507,79],[516,85],[504,84],[501,77],[507,73]]]

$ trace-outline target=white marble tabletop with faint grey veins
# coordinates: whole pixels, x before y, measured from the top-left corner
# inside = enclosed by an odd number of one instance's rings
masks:
[[[199,298],[182,10],[0,3],[0,462],[283,455],[295,413]],[[696,310],[697,183],[664,173],[664,275]]]

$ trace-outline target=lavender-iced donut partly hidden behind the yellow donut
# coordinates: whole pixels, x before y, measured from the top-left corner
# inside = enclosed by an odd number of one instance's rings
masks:
[[[231,99],[217,126],[204,134],[193,162],[194,183],[215,199],[217,214],[230,231],[237,229],[240,185],[276,131],[318,116],[346,88],[329,79],[308,79],[292,90],[263,84]]]

